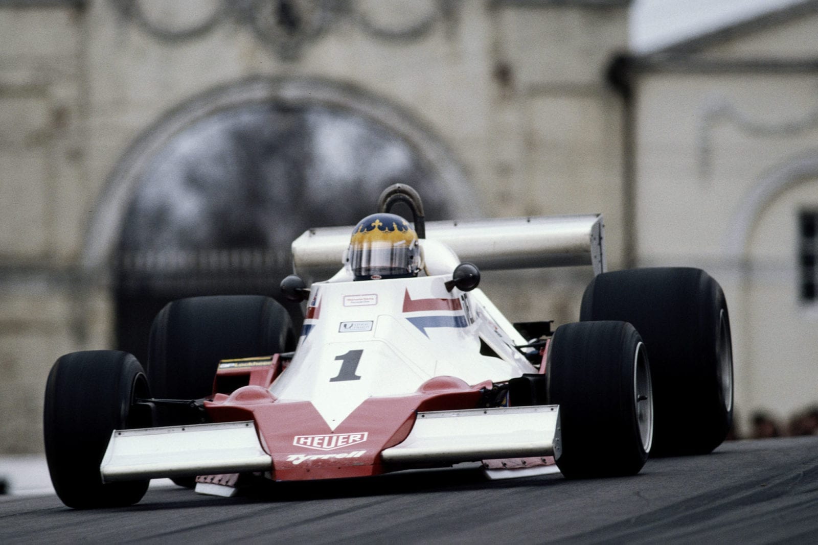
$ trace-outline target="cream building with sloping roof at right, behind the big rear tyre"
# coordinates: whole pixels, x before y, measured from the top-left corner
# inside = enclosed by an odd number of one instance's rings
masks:
[[[725,288],[739,427],[818,402],[818,2],[632,59],[640,266]]]

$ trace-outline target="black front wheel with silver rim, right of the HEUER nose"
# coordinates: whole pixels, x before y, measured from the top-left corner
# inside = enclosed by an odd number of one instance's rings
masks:
[[[548,400],[560,405],[557,466],[569,479],[640,471],[653,438],[645,345],[625,322],[557,328],[546,362]]]

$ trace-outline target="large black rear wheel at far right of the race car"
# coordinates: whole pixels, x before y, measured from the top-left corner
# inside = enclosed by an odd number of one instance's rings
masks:
[[[733,418],[733,355],[716,280],[692,268],[598,275],[580,319],[623,320],[645,340],[656,392],[654,454],[709,453],[721,444]]]

